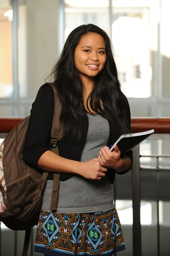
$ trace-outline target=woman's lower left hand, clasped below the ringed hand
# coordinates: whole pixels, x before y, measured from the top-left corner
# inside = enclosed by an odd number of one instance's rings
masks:
[[[98,158],[79,163],[78,174],[86,179],[101,180],[101,178],[105,176],[105,172],[107,172],[107,169],[101,166]]]

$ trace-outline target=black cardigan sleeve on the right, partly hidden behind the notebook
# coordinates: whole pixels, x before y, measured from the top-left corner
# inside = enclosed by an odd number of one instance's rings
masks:
[[[131,131],[131,115],[130,115],[129,102],[128,102],[126,96],[125,96],[123,93],[122,93],[122,98],[123,98],[124,106],[125,106],[125,109],[126,109],[127,125],[128,125],[127,128],[129,129],[129,131]],[[130,169],[131,169],[132,166],[133,166],[133,151],[132,151],[132,150],[127,151],[127,152],[125,153],[125,156],[130,157],[132,163],[131,163],[130,168],[127,169],[127,170],[125,170],[124,172],[116,172],[116,173],[119,174],[119,175],[122,175],[122,174],[127,173],[128,171],[130,171]]]

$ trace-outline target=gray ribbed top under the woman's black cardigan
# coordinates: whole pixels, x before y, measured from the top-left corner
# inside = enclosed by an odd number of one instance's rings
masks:
[[[109,124],[102,116],[88,114],[88,122],[81,162],[98,157],[100,148],[107,144],[109,137]],[[47,212],[52,212],[52,184],[53,180],[46,181],[42,197],[42,210]],[[101,212],[113,207],[112,186],[106,177],[102,177],[101,180],[88,180],[80,175],[74,175],[59,182],[57,213]]]

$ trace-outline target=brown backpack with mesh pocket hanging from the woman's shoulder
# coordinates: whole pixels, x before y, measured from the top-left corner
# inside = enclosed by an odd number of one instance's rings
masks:
[[[51,150],[58,153],[57,141],[62,137],[59,117],[61,104],[53,84],[55,106],[51,127]],[[28,230],[25,236],[23,256],[27,255],[31,228],[37,225],[42,204],[42,189],[48,172],[43,174],[28,166],[23,160],[23,145],[30,116],[23,119],[9,132],[0,147],[0,194],[4,211],[2,221],[11,230]],[[54,173],[50,209],[56,209],[59,173]],[[1,200],[1,201],[2,201]]]

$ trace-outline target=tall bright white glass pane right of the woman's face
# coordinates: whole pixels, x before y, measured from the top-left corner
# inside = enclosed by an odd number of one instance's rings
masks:
[[[157,50],[156,3],[153,0],[112,2],[112,42],[119,79],[127,97],[148,98],[153,94],[155,63],[152,64],[152,51]]]

